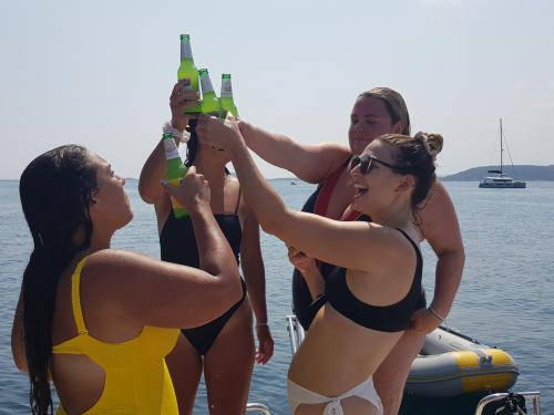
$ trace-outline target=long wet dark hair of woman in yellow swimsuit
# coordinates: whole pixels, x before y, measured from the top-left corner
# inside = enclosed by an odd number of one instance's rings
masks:
[[[94,203],[96,189],[90,153],[78,145],[40,155],[21,175],[21,206],[34,243],[22,284],[23,336],[33,414],[53,412],[48,378],[58,283],[75,253],[90,246],[89,207]],[[74,240],[76,231],[83,235],[80,242]]]

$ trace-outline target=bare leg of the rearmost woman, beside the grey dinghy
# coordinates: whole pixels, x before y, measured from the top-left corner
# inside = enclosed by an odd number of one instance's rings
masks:
[[[404,333],[373,373],[373,383],[381,398],[384,415],[398,414],[411,364],[424,342],[423,334]]]

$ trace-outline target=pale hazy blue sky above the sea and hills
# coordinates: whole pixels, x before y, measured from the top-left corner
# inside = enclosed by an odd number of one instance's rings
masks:
[[[443,135],[439,175],[497,164],[500,117],[514,164],[552,165],[553,15],[551,0],[2,0],[0,178],[68,143],[138,177],[181,33],[216,91],[232,73],[243,118],[301,143],[347,144],[357,95],[389,86],[412,133]]]

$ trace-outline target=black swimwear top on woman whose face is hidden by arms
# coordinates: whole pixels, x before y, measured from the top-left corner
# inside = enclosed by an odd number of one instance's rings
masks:
[[[238,200],[240,200],[240,197]],[[223,235],[227,238],[238,264],[243,229],[240,228],[237,210],[238,201],[234,214],[215,214],[214,217]],[[199,268],[198,246],[194,236],[193,222],[188,215],[177,219],[173,210],[170,212],[160,234],[160,248],[163,261]]]

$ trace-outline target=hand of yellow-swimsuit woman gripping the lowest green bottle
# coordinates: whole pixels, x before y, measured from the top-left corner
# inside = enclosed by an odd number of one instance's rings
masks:
[[[204,175],[196,173],[196,167],[188,167],[188,172],[185,177],[178,180],[177,186],[168,181],[162,181],[162,185],[165,191],[184,206],[187,211],[196,211],[203,207],[209,209],[209,183]]]

